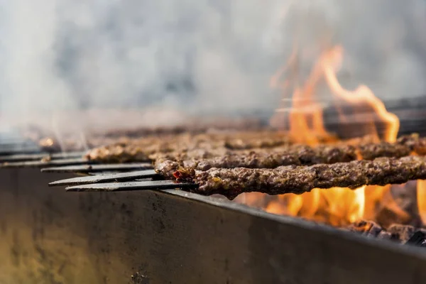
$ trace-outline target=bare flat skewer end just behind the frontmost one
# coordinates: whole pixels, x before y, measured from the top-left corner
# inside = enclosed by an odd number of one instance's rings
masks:
[[[50,182],[50,186],[69,186],[69,185],[89,185],[91,183],[101,182],[124,182],[129,180],[138,180],[141,178],[160,177],[155,170],[137,170],[127,173],[111,173],[109,175],[92,175],[89,177],[67,178],[66,180],[56,180]]]

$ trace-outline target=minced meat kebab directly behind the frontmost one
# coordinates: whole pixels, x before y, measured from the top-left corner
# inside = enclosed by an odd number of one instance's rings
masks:
[[[180,168],[209,170],[210,168],[277,168],[283,165],[315,165],[344,163],[363,158],[400,158],[417,153],[424,155],[425,138],[404,136],[397,143],[366,143],[359,146],[289,146],[288,148],[256,149],[246,152],[188,151],[156,155],[155,168],[166,178]]]

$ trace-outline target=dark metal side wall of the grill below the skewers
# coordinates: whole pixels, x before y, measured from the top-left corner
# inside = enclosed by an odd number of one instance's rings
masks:
[[[70,177],[0,170],[0,283],[426,283],[422,249],[180,190],[47,186]]]

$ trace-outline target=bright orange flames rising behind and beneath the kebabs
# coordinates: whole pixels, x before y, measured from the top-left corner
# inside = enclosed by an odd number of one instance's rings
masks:
[[[322,141],[333,141],[332,134],[324,126],[322,104],[317,102],[315,97],[318,85],[325,82],[333,100],[349,103],[351,107],[353,106],[354,112],[357,107],[368,107],[373,110],[378,121],[385,126],[385,130],[379,135],[375,122],[371,118],[363,128],[364,136],[373,136],[376,141],[380,138],[383,141],[395,141],[400,126],[398,116],[388,112],[383,102],[368,87],[361,85],[354,91],[342,87],[337,80],[337,71],[342,65],[342,59],[343,48],[339,45],[334,46],[320,55],[303,84],[297,84],[294,77],[279,84],[279,77],[286,70],[291,69],[292,66],[293,70],[297,70],[297,52],[293,50],[288,65],[271,80],[273,86],[279,85],[283,90],[293,84],[291,97],[283,98],[283,102],[291,101],[292,107],[277,109],[271,124],[288,130],[289,135],[297,143],[315,146]],[[339,119],[343,121],[347,118],[340,113]],[[419,182],[420,186],[422,190],[419,190],[419,195],[422,196],[419,200],[426,200],[426,183]],[[341,187],[315,189],[303,195],[280,195],[268,202],[265,209],[274,214],[288,214],[343,226],[368,215],[373,216],[383,197],[388,196],[389,190],[390,186],[364,186],[356,190]],[[426,202],[423,206],[426,208]],[[426,219],[426,214],[422,218]]]

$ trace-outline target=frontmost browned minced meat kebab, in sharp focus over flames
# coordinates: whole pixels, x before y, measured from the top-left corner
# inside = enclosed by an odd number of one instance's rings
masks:
[[[377,158],[349,163],[288,165],[273,169],[211,168],[206,171],[180,168],[173,173],[178,181],[195,182],[190,191],[202,195],[220,194],[234,199],[244,192],[268,195],[302,194],[314,188],[401,184],[426,179],[426,157]]]

